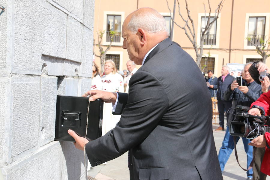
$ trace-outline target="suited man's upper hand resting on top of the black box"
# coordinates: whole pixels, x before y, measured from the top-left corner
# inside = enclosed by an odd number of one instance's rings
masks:
[[[82,96],[86,97],[88,95],[90,95],[89,101],[102,99],[105,103],[113,103],[113,104],[115,104],[117,98],[116,92],[106,92],[100,90],[87,91]]]

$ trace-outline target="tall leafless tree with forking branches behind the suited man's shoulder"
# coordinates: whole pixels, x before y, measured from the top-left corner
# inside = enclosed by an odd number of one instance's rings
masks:
[[[166,0],[166,1],[167,1],[168,9],[170,10],[170,14],[171,14],[171,17],[172,17],[172,13],[171,13],[171,9],[169,7],[168,0]],[[187,7],[187,0],[185,0],[186,10],[187,10],[187,19],[185,19],[184,16],[182,15],[182,13],[180,12],[180,3],[179,3],[179,0],[177,0],[178,12],[179,12],[179,15],[181,16],[181,18],[182,18],[182,20],[184,21],[185,24],[184,24],[184,26],[180,26],[177,22],[174,21],[174,19],[172,19],[172,18],[171,19],[176,24],[176,26],[178,26],[181,29],[184,29],[187,38],[189,39],[189,41],[192,43],[192,45],[194,47],[194,50],[196,52],[196,62],[197,62],[197,65],[199,66],[200,69],[202,69],[202,67],[201,67],[201,59],[202,59],[202,55],[203,55],[203,45],[205,44],[204,43],[205,36],[209,34],[209,30],[211,29],[213,23],[217,20],[218,15],[219,15],[222,7],[223,7],[223,2],[224,1],[225,0],[221,0],[220,3],[217,5],[217,8],[215,10],[215,14],[214,14],[214,17],[213,17],[212,20],[210,20],[211,6],[210,6],[209,0],[208,0],[208,7],[209,7],[209,12],[208,13],[206,13],[205,4],[203,3],[204,12],[205,12],[204,18],[205,18],[205,20],[207,18],[207,22],[205,22],[205,28],[201,28],[201,30],[200,30],[200,42],[198,44],[197,41],[196,41],[196,32],[195,32],[194,21],[190,16],[190,10]],[[190,21],[191,25],[189,24],[189,21]]]

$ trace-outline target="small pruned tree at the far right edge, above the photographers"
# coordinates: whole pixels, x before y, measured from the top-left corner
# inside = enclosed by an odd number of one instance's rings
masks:
[[[265,39],[266,39],[266,36],[265,36]],[[268,53],[268,50],[269,50],[268,47],[270,45],[270,42],[268,40],[269,40],[269,38],[267,39],[267,41],[265,41],[263,38],[260,38],[260,39],[247,38],[247,41],[249,41],[249,43],[252,46],[255,46],[257,53],[262,56],[263,63],[265,63],[266,58],[268,58],[270,56],[270,54]],[[265,49],[266,46],[267,46],[267,48]]]

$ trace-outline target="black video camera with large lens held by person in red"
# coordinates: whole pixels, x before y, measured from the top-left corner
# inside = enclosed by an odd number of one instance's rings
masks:
[[[248,114],[250,110],[247,106],[235,107],[235,119],[229,126],[229,132],[232,136],[246,137],[254,139],[265,132],[270,132],[269,116],[253,116]]]

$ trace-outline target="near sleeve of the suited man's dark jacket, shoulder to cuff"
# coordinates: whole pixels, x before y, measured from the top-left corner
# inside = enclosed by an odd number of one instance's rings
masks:
[[[164,86],[151,73],[141,70],[133,75],[129,83],[128,101],[116,127],[85,146],[93,167],[117,158],[140,144],[169,108]]]

